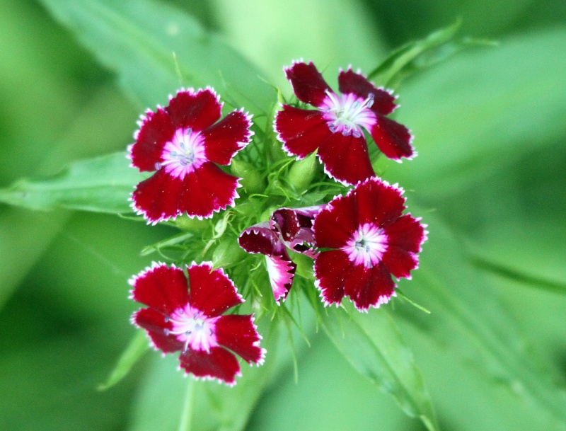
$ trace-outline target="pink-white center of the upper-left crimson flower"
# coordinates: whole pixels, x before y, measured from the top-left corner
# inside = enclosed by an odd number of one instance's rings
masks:
[[[176,130],[173,139],[163,146],[161,159],[163,162],[156,163],[156,169],[163,166],[168,174],[183,180],[207,160],[200,132],[193,132],[190,127]]]

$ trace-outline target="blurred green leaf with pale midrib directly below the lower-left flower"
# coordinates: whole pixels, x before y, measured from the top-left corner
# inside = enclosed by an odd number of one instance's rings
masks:
[[[154,355],[154,366],[141,387],[129,430],[243,430],[272,372],[286,365],[286,362],[277,362],[278,331],[280,327],[270,331],[262,342],[262,347],[268,351],[265,364],[250,367],[242,362],[242,376],[232,387],[218,381],[183,379],[184,370],[178,371],[175,355],[166,358]],[[167,408],[162,408],[164,404]]]

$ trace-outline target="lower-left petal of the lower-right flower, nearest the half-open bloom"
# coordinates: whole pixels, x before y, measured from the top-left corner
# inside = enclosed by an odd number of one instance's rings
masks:
[[[340,304],[344,282],[352,269],[352,262],[341,250],[323,251],[318,255],[314,263],[315,284],[326,305]]]

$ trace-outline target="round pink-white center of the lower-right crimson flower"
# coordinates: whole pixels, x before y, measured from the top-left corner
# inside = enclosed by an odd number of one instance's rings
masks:
[[[354,265],[372,268],[381,262],[383,253],[387,250],[387,243],[388,238],[383,229],[366,223],[359,226],[342,250],[347,253]]]

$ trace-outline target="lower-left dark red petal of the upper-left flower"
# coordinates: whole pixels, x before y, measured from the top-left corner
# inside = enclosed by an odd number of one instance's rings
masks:
[[[180,214],[179,195],[183,181],[168,175],[161,168],[153,176],[141,181],[132,194],[134,209],[149,222],[156,224]]]

